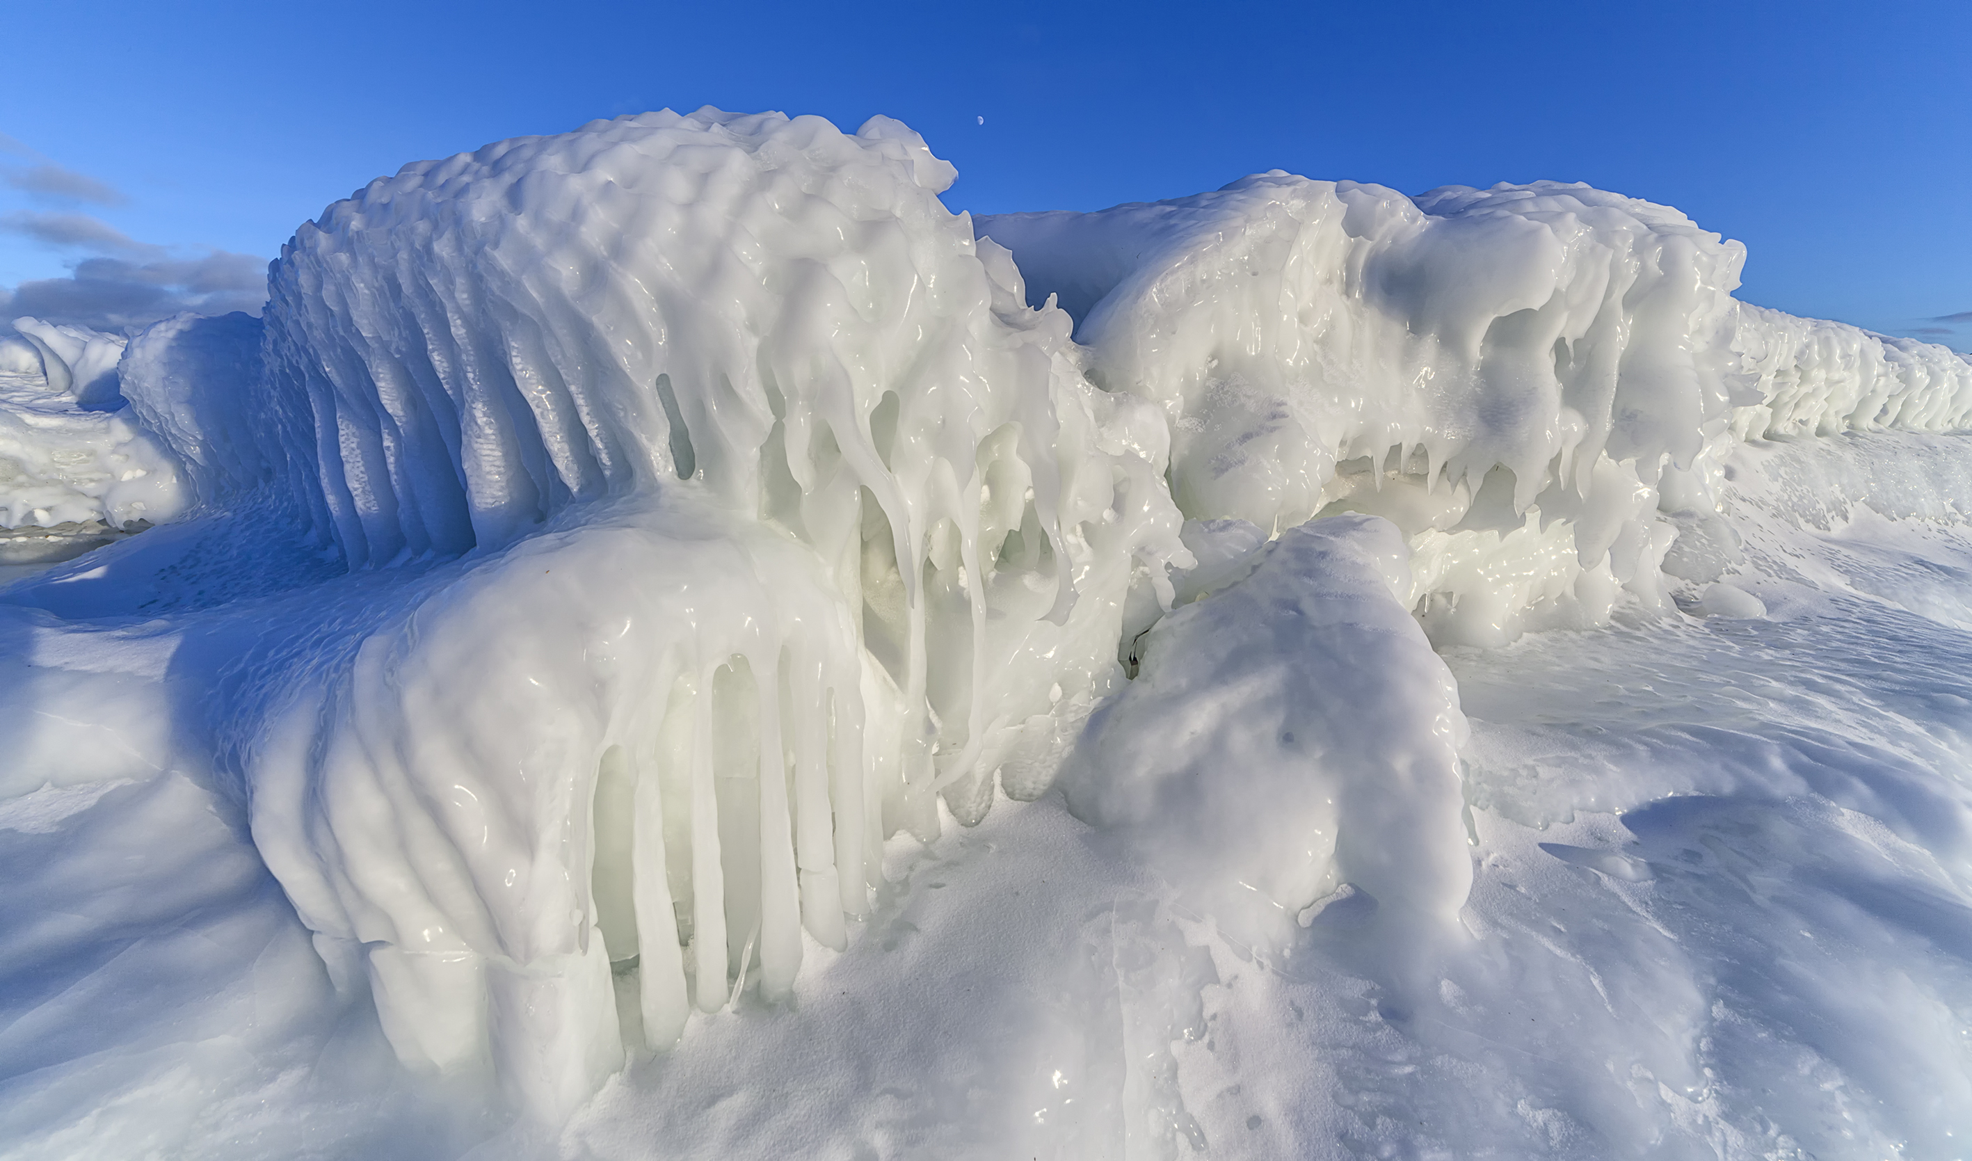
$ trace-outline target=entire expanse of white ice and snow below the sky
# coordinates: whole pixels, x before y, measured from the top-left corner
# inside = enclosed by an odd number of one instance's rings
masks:
[[[594,122],[4,351],[176,487],[0,593],[4,1155],[1958,1155],[1964,359],[1585,187],[951,177]]]

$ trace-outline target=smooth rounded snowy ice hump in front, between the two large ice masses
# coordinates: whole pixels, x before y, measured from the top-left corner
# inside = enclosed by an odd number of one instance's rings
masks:
[[[1465,717],[1400,603],[1406,558],[1388,520],[1317,520],[1160,621],[1069,767],[1075,814],[1248,944],[1292,948],[1294,922],[1347,891],[1455,922]]]

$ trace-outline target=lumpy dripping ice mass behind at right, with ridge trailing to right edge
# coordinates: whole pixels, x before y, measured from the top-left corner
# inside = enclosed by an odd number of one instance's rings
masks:
[[[1102,386],[1163,408],[1187,516],[1388,516],[1442,643],[1658,607],[1658,507],[1716,507],[1735,438],[1972,420],[1962,357],[1747,307],[1743,246],[1585,185],[1272,171],[976,229],[1077,313]]]

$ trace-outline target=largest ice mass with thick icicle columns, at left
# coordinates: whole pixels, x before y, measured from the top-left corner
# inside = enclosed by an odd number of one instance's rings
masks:
[[[621,1062],[611,964],[637,1047],[785,993],[885,834],[1039,794],[1120,682],[1126,595],[1187,562],[1165,426],[951,177],[887,118],[659,112],[408,166],[284,248],[268,390],[335,544],[469,554],[248,761],[406,1060],[566,1112]]]

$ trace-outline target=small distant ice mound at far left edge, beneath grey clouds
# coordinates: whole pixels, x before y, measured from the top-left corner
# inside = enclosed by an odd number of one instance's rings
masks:
[[[0,371],[0,562],[73,556],[130,526],[176,518],[189,497],[170,449],[116,394],[124,339],[14,319],[35,359]],[[18,558],[18,560],[16,560]]]

